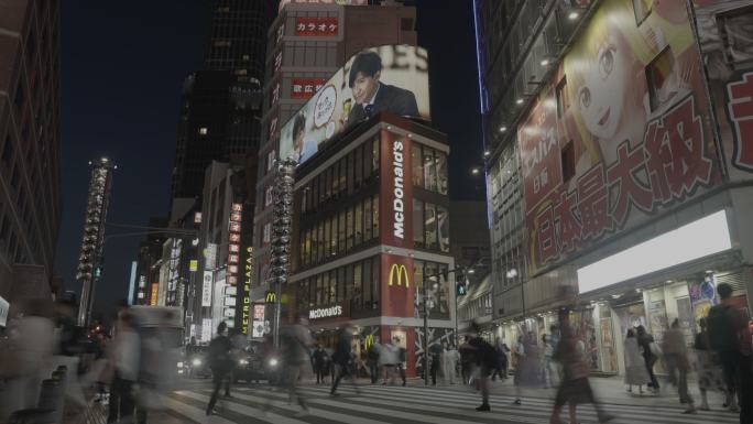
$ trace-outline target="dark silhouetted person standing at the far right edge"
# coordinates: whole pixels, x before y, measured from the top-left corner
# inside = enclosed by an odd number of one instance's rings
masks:
[[[709,343],[719,356],[727,390],[728,407],[736,411],[735,394],[740,405],[740,423],[753,423],[753,376],[751,371],[750,316],[734,305],[732,286],[717,286],[720,303],[711,307],[707,317]]]

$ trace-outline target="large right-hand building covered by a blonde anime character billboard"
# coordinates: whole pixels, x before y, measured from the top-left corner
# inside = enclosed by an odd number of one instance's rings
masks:
[[[750,0],[476,0],[494,337],[565,302],[592,371],[753,306]],[[569,294],[576,294],[571,296]]]

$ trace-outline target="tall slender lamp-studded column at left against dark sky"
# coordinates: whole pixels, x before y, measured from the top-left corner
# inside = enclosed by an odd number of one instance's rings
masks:
[[[105,222],[112,192],[112,172],[118,167],[107,157],[89,162],[92,166],[87,191],[81,250],[76,268],[76,280],[81,283],[81,303],[78,325],[87,325],[94,306],[94,293],[102,276],[102,250],[105,248]]]

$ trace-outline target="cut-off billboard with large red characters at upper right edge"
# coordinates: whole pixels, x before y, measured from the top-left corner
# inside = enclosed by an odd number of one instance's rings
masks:
[[[695,0],[730,180],[753,178],[753,9],[750,0]]]

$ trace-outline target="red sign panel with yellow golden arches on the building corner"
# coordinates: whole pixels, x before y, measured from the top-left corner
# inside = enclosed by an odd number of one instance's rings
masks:
[[[385,253],[381,268],[382,315],[412,317],[416,290],[413,258]]]

